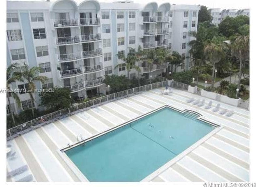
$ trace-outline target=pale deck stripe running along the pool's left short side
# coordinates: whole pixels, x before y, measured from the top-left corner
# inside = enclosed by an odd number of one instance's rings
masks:
[[[60,166],[63,168],[64,172],[69,176],[71,181],[74,182],[81,182],[79,178],[76,176],[76,174],[69,168],[69,166],[66,164],[66,162],[60,157],[60,155],[56,152],[58,147],[53,142],[53,140],[45,133],[45,131],[41,128],[36,129],[36,133],[40,138],[45,142],[46,146],[49,148],[51,153],[53,154],[53,157],[56,158],[56,160],[59,162]]]

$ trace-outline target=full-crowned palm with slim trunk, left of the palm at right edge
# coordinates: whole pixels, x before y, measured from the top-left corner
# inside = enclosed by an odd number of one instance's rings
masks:
[[[212,83],[211,87],[214,85],[214,72],[215,64],[220,62],[224,55],[224,43],[222,37],[213,37],[213,39],[205,45],[204,53],[208,60],[213,64],[212,68]]]

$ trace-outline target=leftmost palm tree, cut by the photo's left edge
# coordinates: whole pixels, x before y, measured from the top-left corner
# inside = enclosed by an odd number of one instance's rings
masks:
[[[23,81],[23,79],[21,77],[21,72],[15,72],[15,70],[14,70],[14,68],[16,68],[16,66],[17,66],[17,63],[11,64],[6,70],[6,89],[10,89],[11,88],[10,85],[12,83],[15,83],[16,81]],[[21,106],[21,102],[19,100],[19,96],[17,95],[17,93],[15,93],[15,92],[7,93],[7,100],[8,100],[8,104],[9,104],[11,117],[13,119],[13,124],[16,125],[16,122],[14,119],[14,111],[13,111],[13,108],[11,107],[10,97],[13,97],[13,99],[15,100],[15,102],[17,103],[17,105],[19,107]]]

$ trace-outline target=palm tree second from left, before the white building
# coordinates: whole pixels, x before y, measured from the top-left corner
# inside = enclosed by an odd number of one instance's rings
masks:
[[[35,90],[36,89],[36,85],[35,85],[35,81],[40,81],[41,83],[45,83],[45,81],[47,81],[47,77],[45,76],[38,76],[39,72],[41,71],[40,67],[32,67],[29,68],[29,66],[24,62],[24,66],[25,66],[25,71],[22,72],[22,77],[24,78],[24,80],[26,82],[28,82],[28,89],[29,90]],[[29,96],[30,96],[30,100],[32,103],[32,115],[33,117],[35,117],[34,114],[34,97],[31,91],[28,92]]]

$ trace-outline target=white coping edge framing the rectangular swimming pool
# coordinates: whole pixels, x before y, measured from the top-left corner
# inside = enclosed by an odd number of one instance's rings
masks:
[[[73,149],[74,147],[80,146],[82,144],[85,144],[88,141],[91,141],[95,138],[98,138],[99,136],[102,136],[104,134],[107,134],[109,132],[112,132],[120,127],[123,127],[125,125],[128,125],[130,123],[132,123],[133,121],[137,121],[138,119],[141,119],[143,117],[146,117],[147,115],[150,115],[151,113],[154,113],[158,110],[161,110],[163,108],[171,108],[173,110],[176,110],[180,113],[185,113],[185,112],[190,112],[190,113],[194,113],[196,115],[198,115],[199,117],[197,119],[209,123],[210,125],[213,125],[215,127],[215,129],[213,131],[211,131],[210,133],[208,133],[207,135],[205,135],[203,138],[201,138],[200,140],[198,140],[197,142],[195,142],[194,144],[192,144],[190,147],[188,147],[187,149],[185,149],[183,152],[181,152],[179,155],[177,155],[176,157],[174,157],[173,159],[171,159],[170,161],[168,161],[166,164],[164,164],[163,166],[161,166],[160,168],[158,168],[157,170],[155,170],[153,173],[149,174],[148,176],[146,176],[145,178],[143,178],[143,180],[141,180],[140,182],[149,182],[151,181],[153,178],[155,178],[156,176],[158,176],[160,173],[162,173],[164,170],[166,170],[167,168],[169,168],[171,165],[175,164],[177,161],[179,161],[181,158],[183,158],[184,156],[186,156],[188,153],[190,153],[192,150],[194,150],[196,147],[198,147],[200,144],[202,144],[203,142],[205,142],[207,139],[209,139],[211,136],[213,136],[213,134],[217,133],[218,131],[220,131],[223,126],[218,125],[216,123],[213,123],[211,121],[202,119],[203,115],[201,115],[201,113],[198,113],[197,111],[194,110],[179,110],[177,108],[174,108],[172,106],[170,106],[169,104],[165,104],[159,108],[156,108],[155,110],[152,110],[148,113],[145,113],[144,115],[141,115],[139,117],[136,117],[134,119],[131,119],[129,121],[126,121],[125,123],[122,123],[120,125],[117,125],[115,127],[112,127],[108,130],[105,130],[103,132],[100,132],[94,136],[91,136],[90,138],[87,138],[85,140],[76,142],[68,147],[64,147],[62,149],[58,149],[56,150],[58,152],[58,154],[62,157],[62,159],[66,162],[66,164],[68,165],[68,167],[77,175],[77,177],[79,178],[79,180],[81,182],[90,182],[86,176],[79,170],[79,168],[77,168],[77,166],[73,163],[73,161],[66,155],[65,151],[68,151],[69,149]]]

